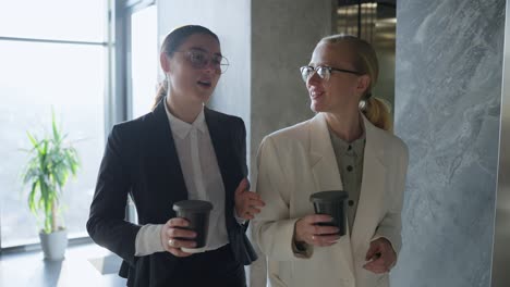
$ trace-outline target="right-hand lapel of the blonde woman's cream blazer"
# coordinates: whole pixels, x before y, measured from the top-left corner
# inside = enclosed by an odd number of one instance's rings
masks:
[[[357,203],[356,216],[352,227],[351,242],[353,250],[366,246],[366,239],[371,239],[374,234],[374,225],[377,224],[378,212],[382,204],[382,191],[386,186],[386,166],[381,158],[384,147],[377,138],[374,127],[364,116],[366,133],[365,153],[363,158],[363,177]],[[361,250],[360,252],[362,252]],[[366,252],[364,250],[363,252]]]

